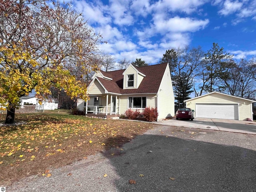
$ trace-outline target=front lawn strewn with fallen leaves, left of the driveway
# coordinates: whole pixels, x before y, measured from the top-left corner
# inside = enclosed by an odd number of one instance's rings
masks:
[[[1,126],[0,186],[30,175],[50,176],[51,168],[110,148],[119,150],[122,144],[154,126],[55,112],[16,114],[19,125]],[[0,115],[0,123],[4,119],[5,115]]]

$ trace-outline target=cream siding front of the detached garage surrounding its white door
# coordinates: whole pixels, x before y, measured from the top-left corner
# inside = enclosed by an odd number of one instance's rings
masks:
[[[212,93],[187,101],[186,107],[196,110],[196,104],[238,104],[239,120],[246,120],[252,116],[251,102],[243,98]],[[197,117],[197,111],[195,111],[195,114],[195,117]]]

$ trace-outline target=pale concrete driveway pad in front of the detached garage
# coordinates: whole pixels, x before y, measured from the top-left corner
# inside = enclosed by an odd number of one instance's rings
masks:
[[[256,122],[227,119],[196,118],[193,121],[175,118],[158,122],[169,126],[182,126],[208,130],[220,130],[237,133],[256,134]]]

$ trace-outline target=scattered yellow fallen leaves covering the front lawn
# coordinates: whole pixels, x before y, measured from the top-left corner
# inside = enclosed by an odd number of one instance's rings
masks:
[[[108,138],[124,135],[122,128],[114,121],[86,119],[84,116],[17,114],[16,118],[26,122],[20,126],[0,129],[2,164],[13,164],[13,160],[29,162],[48,158],[84,145],[100,149],[108,147]],[[129,123],[127,127],[126,132],[133,134],[132,124]]]

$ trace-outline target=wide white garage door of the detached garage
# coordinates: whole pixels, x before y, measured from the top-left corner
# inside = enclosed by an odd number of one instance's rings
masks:
[[[237,104],[196,104],[197,118],[238,120]]]

